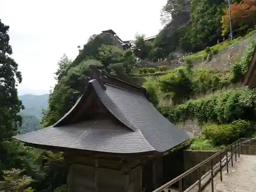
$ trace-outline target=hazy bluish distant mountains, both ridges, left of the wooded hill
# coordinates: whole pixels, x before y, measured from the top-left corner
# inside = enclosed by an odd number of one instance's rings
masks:
[[[44,95],[20,95],[18,96],[22,100],[25,110],[20,111],[22,115],[22,126],[19,127],[18,131],[20,134],[37,131],[42,128],[40,124],[42,118],[41,110],[46,110],[48,107],[49,94]]]

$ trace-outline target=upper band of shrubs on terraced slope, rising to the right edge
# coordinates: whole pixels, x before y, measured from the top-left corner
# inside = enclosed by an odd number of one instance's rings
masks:
[[[240,82],[244,79],[250,60],[256,47],[256,40],[252,41],[244,51],[240,60],[232,63],[231,70],[226,72],[193,69],[188,64],[184,67],[168,71],[168,74],[157,79],[149,79],[144,87],[149,88],[151,95],[169,97],[175,104],[194,98],[199,93],[216,91],[229,84]],[[152,89],[154,88],[154,89]]]

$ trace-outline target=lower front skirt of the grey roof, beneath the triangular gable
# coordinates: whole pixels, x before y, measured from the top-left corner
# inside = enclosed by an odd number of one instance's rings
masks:
[[[110,120],[90,120],[68,126],[51,126],[15,138],[38,145],[107,153],[155,151],[140,131],[133,132]]]

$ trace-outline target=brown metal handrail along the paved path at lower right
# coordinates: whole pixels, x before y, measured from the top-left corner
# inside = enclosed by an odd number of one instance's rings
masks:
[[[246,140],[246,141],[242,142],[242,140]],[[201,192],[201,179],[202,179],[202,178],[201,178],[201,176],[200,176],[200,168],[201,168],[202,165],[204,165],[205,163],[208,163],[208,162],[211,162],[211,169],[210,169],[210,173],[211,173],[211,183],[212,183],[212,184],[211,184],[211,189],[212,189],[211,191],[213,192],[213,191],[214,191],[214,189],[213,189],[213,187],[214,187],[214,185],[213,185],[213,171],[214,171],[214,169],[216,169],[216,167],[214,168],[213,160],[214,160],[215,158],[217,158],[218,156],[220,156],[220,161],[219,161],[219,163],[220,163],[220,172],[221,172],[221,181],[222,181],[222,167],[223,167],[223,166],[222,166],[222,163],[225,161],[225,159],[223,160],[223,159],[221,158],[221,155],[222,155],[223,153],[225,153],[225,155],[223,156],[223,158],[225,158],[225,156],[226,156],[226,164],[225,164],[225,166],[227,166],[227,173],[228,173],[228,163],[229,163],[229,161],[231,160],[231,166],[233,166],[233,155],[235,154],[236,161],[237,161],[237,153],[236,153],[236,152],[238,152],[238,157],[240,157],[240,152],[241,152],[240,148],[241,148],[242,143],[245,143],[245,142],[247,142],[247,141],[249,141],[249,140],[255,140],[255,138],[253,138],[253,139],[247,139],[247,138],[238,139],[237,141],[235,141],[235,142],[233,142],[232,144],[228,145],[226,148],[224,148],[224,149],[221,150],[220,152],[218,152],[218,153],[212,155],[211,157],[205,159],[204,161],[202,161],[201,163],[197,164],[196,166],[190,168],[189,170],[187,170],[187,171],[184,172],[183,174],[179,175],[179,176],[176,177],[175,179],[173,179],[173,180],[171,180],[171,181],[165,183],[164,185],[160,186],[159,188],[155,189],[153,192],[162,192],[164,189],[166,189],[167,187],[173,185],[173,184],[176,183],[176,182],[179,182],[179,191],[182,192],[182,191],[183,191],[183,190],[182,190],[182,179],[183,179],[184,177],[186,177],[187,175],[193,173],[195,170],[198,170],[198,180],[196,181],[196,183],[193,184],[193,185],[194,185],[193,187],[195,187],[197,184],[199,184],[199,192]],[[233,150],[233,146],[234,146],[234,150]],[[237,146],[237,147],[236,147],[236,146]],[[229,150],[231,151],[230,155],[228,155]],[[230,157],[230,156],[231,156],[231,157]],[[229,157],[230,157],[230,158],[229,158]],[[228,159],[228,158],[229,158],[229,159]],[[204,179],[205,177],[207,177],[210,173],[208,173],[207,175],[204,175],[204,176],[203,176],[203,179]],[[192,185],[191,185],[191,186],[192,186]],[[191,187],[191,186],[189,187],[190,189],[193,188],[193,187]],[[186,189],[186,191],[189,191],[189,190]]]

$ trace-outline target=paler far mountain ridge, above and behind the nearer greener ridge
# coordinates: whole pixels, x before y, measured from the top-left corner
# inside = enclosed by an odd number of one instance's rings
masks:
[[[25,110],[21,111],[21,114],[32,115],[38,119],[42,118],[42,109],[47,109],[49,94],[44,95],[20,95],[18,96],[22,100]]]

